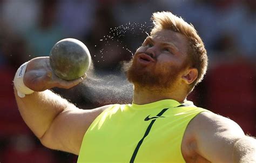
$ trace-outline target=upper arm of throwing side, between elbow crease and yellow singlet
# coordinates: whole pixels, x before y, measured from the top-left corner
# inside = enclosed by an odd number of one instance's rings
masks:
[[[44,134],[41,139],[42,144],[54,150],[78,155],[87,128],[105,108],[107,106],[82,110],[73,105],[66,108],[55,118],[49,130]]]

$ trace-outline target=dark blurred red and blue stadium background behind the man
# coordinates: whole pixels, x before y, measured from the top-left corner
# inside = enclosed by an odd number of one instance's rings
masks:
[[[58,40],[72,37],[89,48],[95,73],[118,76],[120,62],[130,60],[150,32],[152,12],[162,10],[192,23],[208,51],[207,75],[188,99],[255,137],[255,0],[0,0],[0,162],[77,161],[76,155],[43,147],[19,115],[12,79],[22,63],[49,56]],[[80,87],[53,91],[84,109],[112,103],[111,96],[97,103],[87,99]]]

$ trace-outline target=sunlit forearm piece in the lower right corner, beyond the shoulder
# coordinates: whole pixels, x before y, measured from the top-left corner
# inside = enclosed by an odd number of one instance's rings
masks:
[[[256,140],[244,137],[235,142],[233,160],[239,163],[256,162]]]

